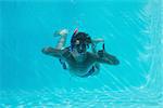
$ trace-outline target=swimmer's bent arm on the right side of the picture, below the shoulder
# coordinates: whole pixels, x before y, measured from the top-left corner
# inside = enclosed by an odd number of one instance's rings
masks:
[[[109,64],[109,65],[118,65],[120,64],[120,60],[115,56],[106,53],[103,50],[98,52],[97,62]]]

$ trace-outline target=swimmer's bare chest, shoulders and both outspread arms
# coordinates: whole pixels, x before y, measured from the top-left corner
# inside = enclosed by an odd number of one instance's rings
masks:
[[[85,59],[83,62],[77,62],[73,56],[73,52],[71,52],[68,48],[65,48],[63,50],[47,48],[42,49],[42,53],[64,59],[68,65],[68,69],[71,70],[71,72],[78,77],[85,76],[96,63],[109,65],[120,64],[118,59],[115,56],[110,55],[103,51],[99,51],[97,54],[86,52]]]

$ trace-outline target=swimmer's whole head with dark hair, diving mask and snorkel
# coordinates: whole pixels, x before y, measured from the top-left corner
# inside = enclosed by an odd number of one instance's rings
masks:
[[[72,40],[71,40],[71,50],[76,50],[79,54],[85,54],[87,49],[91,43],[90,37],[85,32],[78,32],[78,29],[75,29]]]

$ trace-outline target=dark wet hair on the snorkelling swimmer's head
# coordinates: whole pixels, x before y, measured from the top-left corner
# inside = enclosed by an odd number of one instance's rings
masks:
[[[91,43],[91,39],[88,36],[88,33],[85,32],[77,32],[76,35],[74,33],[71,40],[71,48],[73,50],[76,40],[79,40],[80,43],[85,43],[86,45],[89,45]]]

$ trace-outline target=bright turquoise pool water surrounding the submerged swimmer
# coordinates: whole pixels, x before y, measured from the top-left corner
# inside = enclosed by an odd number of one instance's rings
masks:
[[[0,1],[0,107],[161,108],[161,0]],[[53,32],[75,28],[103,38],[118,66],[89,78],[71,76],[58,58]]]

